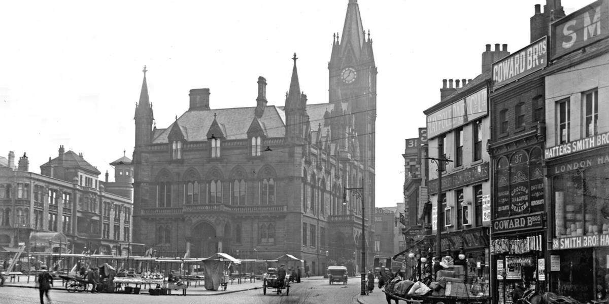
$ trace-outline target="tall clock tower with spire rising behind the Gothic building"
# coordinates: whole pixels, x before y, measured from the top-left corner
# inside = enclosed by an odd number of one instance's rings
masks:
[[[328,71],[329,102],[342,102],[340,108],[352,114],[359,142],[357,159],[374,168],[376,65],[370,31],[366,33],[362,26],[357,0],[349,0],[342,35],[334,34]]]

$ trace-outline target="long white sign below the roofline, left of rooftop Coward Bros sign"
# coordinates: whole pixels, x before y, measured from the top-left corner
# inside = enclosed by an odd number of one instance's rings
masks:
[[[484,88],[429,114],[427,117],[427,135],[433,138],[478,117],[485,116],[487,115],[487,108],[487,88]]]

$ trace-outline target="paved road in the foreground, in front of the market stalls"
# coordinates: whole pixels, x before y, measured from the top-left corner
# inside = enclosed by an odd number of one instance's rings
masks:
[[[327,280],[303,280],[303,283],[292,284],[289,295],[276,295],[267,290],[262,294],[262,288],[234,292],[222,295],[187,295],[186,297],[153,296],[147,294],[86,294],[69,293],[62,290],[52,290],[51,299],[54,304],[75,303],[125,303],[125,304],[353,304],[354,297],[359,294],[359,281],[351,280],[347,285],[329,285]],[[0,288],[0,304],[38,303],[38,290],[32,288],[4,287]]]

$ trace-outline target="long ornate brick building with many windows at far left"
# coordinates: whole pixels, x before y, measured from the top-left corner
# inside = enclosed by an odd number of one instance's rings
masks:
[[[0,246],[25,242],[30,252],[127,254],[132,199],[99,181],[100,172],[81,154],[65,151],[29,171],[24,154],[0,164]],[[51,232],[51,234],[49,234]],[[37,240],[40,233],[51,242]],[[27,240],[30,240],[29,242]]]

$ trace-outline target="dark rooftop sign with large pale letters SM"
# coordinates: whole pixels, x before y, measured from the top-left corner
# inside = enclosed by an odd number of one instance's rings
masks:
[[[594,1],[552,24],[552,58],[573,52],[608,35],[609,0]]]

